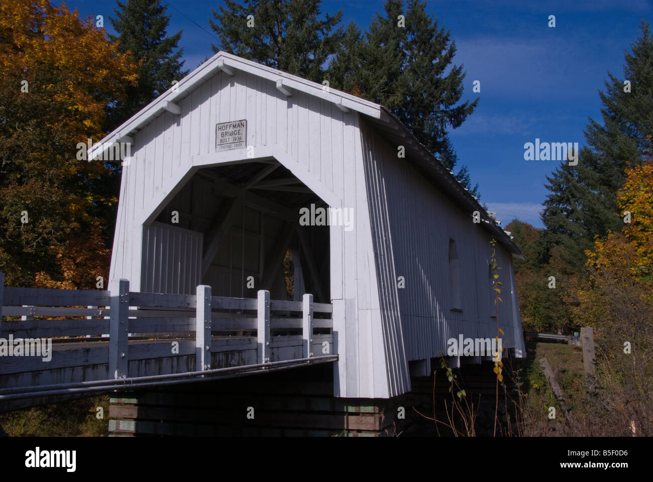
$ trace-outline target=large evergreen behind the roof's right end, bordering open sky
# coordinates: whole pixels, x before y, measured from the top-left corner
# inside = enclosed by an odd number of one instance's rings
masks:
[[[453,170],[456,153],[447,129],[459,127],[479,99],[460,104],[465,78],[462,65],[445,70],[456,53],[449,31],[426,13],[417,0],[387,0],[385,16],[377,13],[367,31],[347,26],[329,65],[335,88],[389,108],[445,167]],[[456,175],[474,195],[467,167]]]

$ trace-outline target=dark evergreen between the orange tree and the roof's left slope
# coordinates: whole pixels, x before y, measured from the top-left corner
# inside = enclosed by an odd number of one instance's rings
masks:
[[[142,63],[138,68],[138,86],[127,88],[127,102],[114,103],[108,108],[106,131],[112,131],[129,119],[172,86],[173,80],[181,80],[188,71],[182,71],[183,48],[177,48],[182,31],[171,37],[166,29],[170,16],[160,0],[117,1],[114,8],[117,18],[110,18],[118,36],[110,35],[111,40],[119,40],[119,52],[131,51],[136,61]]]

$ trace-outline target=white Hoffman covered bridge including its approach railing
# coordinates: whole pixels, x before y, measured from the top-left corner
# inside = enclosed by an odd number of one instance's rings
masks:
[[[43,383],[56,394],[311,362],[333,364],[336,397],[392,398],[449,338],[494,338],[497,325],[522,357],[522,254],[383,106],[219,52],[91,157],[116,142],[130,155],[109,290],[5,287],[0,303],[5,338],[89,345],[0,358],[0,402]]]

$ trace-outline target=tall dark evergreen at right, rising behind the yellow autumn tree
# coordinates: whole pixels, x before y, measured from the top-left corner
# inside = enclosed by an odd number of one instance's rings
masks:
[[[599,92],[603,125],[589,120],[588,147],[581,150],[578,165],[562,163],[547,176],[551,193],[542,214],[547,249],[557,246],[574,272],[584,269],[584,251],[592,248],[594,236],[623,226],[616,193],[626,167],[641,163],[651,148],[646,136],[653,127],[653,38],[648,24],[642,22],[641,29],[632,53],[626,52],[624,78],[608,73],[605,92]]]

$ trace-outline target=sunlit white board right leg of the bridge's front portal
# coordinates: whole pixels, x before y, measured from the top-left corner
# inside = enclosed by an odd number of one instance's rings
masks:
[[[377,264],[375,257],[377,200],[368,197],[366,158],[370,154],[365,152],[359,123],[358,116],[347,115],[342,131],[337,123],[331,125],[332,133],[340,131],[340,142],[332,150],[334,190],[342,189],[342,206],[352,208],[354,214],[351,231],[330,228],[333,323],[338,340],[334,395],[390,398],[409,391],[410,380],[403,343],[393,341],[400,338],[401,328],[396,297],[394,309],[392,295],[390,302],[388,298],[389,265]],[[345,159],[342,165],[336,161],[340,156]]]

